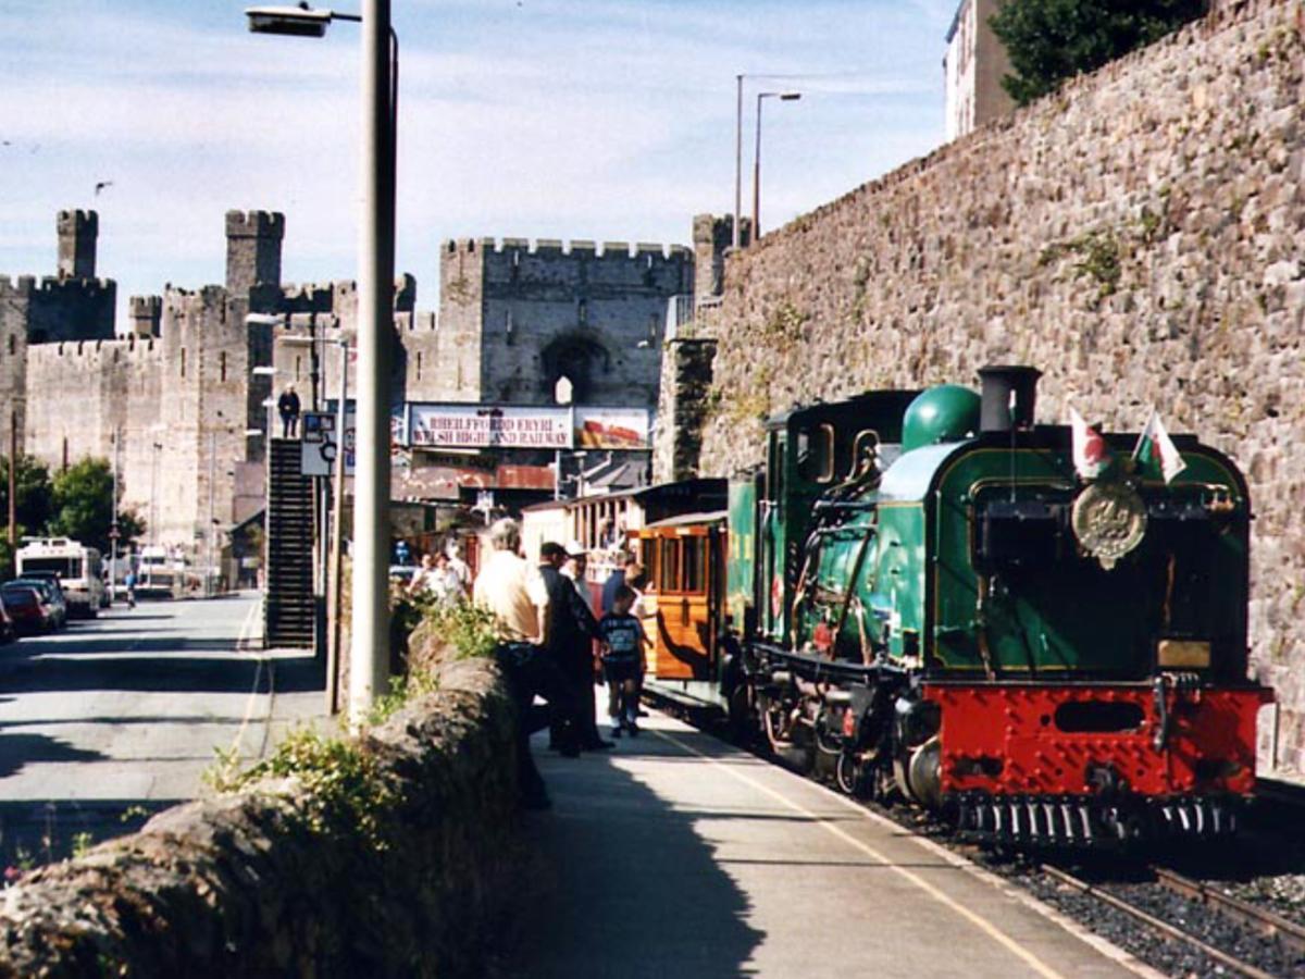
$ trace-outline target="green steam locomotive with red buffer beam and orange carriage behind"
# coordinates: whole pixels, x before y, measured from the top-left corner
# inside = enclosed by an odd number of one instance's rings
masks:
[[[1246,480],[1150,423],[1039,424],[1032,367],[979,375],[776,415],[726,508],[633,531],[647,689],[966,835],[1233,834],[1272,700]]]

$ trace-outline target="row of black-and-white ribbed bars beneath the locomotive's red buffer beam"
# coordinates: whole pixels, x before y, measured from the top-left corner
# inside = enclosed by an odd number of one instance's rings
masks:
[[[1047,846],[1208,839],[1237,830],[1235,801],[1194,796],[1152,800],[962,792],[945,799],[945,808],[962,833]]]

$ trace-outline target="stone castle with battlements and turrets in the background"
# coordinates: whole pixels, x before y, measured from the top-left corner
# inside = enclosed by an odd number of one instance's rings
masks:
[[[234,210],[224,285],[132,296],[119,330],[116,286],[95,277],[98,215],[56,225],[55,275],[0,277],[0,398],[20,452],[57,469],[116,446],[146,539],[194,556],[262,505],[254,429],[275,393],[296,384],[305,409],[338,394],[355,286],[283,286],[284,217]],[[549,405],[566,377],[577,402],[651,409],[667,308],[692,295],[694,266],[679,245],[446,241],[437,312],[416,309],[411,275],[395,283],[392,405]]]

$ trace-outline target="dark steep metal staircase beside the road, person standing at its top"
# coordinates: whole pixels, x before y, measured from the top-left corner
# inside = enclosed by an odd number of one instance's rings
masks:
[[[268,463],[264,649],[313,647],[313,480],[298,439],[271,439]]]

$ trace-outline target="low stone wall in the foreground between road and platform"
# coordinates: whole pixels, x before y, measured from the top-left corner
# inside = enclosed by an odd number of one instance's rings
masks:
[[[191,803],[5,892],[0,975],[485,974],[512,886],[512,705],[487,660],[367,738],[386,848],[304,826],[303,790]]]

